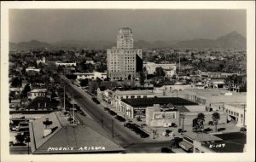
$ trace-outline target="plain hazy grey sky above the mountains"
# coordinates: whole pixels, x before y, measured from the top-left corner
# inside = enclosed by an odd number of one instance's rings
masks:
[[[129,26],[135,41],[215,39],[236,31],[246,37],[241,9],[10,9],[9,41],[115,41]]]

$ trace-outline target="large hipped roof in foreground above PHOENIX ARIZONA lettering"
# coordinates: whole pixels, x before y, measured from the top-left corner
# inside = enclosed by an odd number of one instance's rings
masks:
[[[95,121],[77,114],[80,120],[53,112],[29,124],[32,154],[120,153],[124,148],[113,142]]]

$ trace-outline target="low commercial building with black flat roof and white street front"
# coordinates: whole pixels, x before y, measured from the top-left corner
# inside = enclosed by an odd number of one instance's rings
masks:
[[[119,101],[119,111],[125,113],[131,119],[146,117],[147,107],[154,107],[154,104],[167,105],[172,104],[174,106],[184,105],[198,105],[193,101],[184,100],[178,97],[160,97],[160,98],[131,98],[121,99]]]

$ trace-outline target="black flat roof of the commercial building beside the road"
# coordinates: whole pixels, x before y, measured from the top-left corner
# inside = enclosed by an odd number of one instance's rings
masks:
[[[160,98],[132,98],[132,99],[122,99],[126,104],[131,105],[131,107],[152,107],[154,104],[166,105],[172,103],[174,106],[183,105],[198,105],[194,101],[188,101],[179,97],[160,97]]]

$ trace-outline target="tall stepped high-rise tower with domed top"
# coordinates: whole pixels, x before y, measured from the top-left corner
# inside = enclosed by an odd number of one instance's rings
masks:
[[[111,80],[134,80],[143,69],[143,51],[133,48],[132,31],[129,27],[119,28],[117,47],[107,50],[108,77]]]

